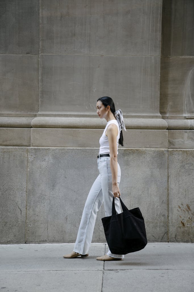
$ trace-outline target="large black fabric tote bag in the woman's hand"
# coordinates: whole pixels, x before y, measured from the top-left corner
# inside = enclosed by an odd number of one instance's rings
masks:
[[[120,197],[119,197],[120,199]],[[127,254],[147,244],[145,224],[139,208],[128,210],[120,199],[123,212],[116,214],[113,198],[112,215],[102,218],[106,241],[111,253]]]

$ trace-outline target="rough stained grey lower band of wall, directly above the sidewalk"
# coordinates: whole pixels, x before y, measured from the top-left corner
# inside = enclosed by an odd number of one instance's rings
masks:
[[[98,175],[99,148],[0,149],[2,181],[8,181],[1,185],[2,222],[12,214],[9,228],[1,225],[1,242],[74,242],[86,197]],[[4,165],[7,161],[11,162]],[[142,211],[148,240],[193,242],[193,150],[120,149],[118,161],[123,201],[129,209],[138,206]],[[22,217],[10,203],[13,194]],[[104,207],[97,214],[93,242],[105,241],[103,217]]]

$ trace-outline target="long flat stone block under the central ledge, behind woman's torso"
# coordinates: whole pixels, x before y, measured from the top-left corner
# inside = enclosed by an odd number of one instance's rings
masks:
[[[33,147],[97,147],[103,129],[61,129],[32,128]],[[123,131],[124,147],[127,148],[167,148],[167,130]],[[97,150],[98,151],[98,150]]]

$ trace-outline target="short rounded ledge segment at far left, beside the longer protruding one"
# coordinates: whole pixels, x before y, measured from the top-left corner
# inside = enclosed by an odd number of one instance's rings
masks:
[[[0,117],[1,128],[31,128],[33,117]]]

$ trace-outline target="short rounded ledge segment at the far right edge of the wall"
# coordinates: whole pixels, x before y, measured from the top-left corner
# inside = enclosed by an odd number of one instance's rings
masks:
[[[194,119],[165,119],[168,130],[194,130]]]

